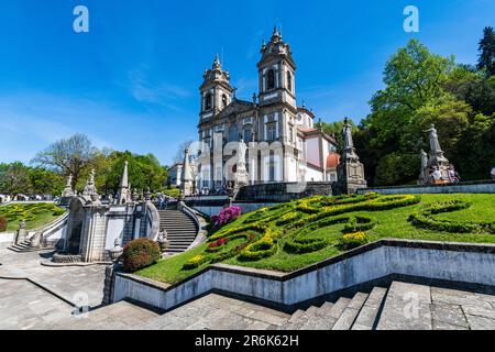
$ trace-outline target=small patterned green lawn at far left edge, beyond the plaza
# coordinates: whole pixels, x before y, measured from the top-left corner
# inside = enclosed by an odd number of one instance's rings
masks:
[[[25,221],[26,229],[37,229],[51,223],[65,210],[54,204],[13,204],[0,207],[0,217],[8,219],[7,231],[19,229],[19,222]]]

